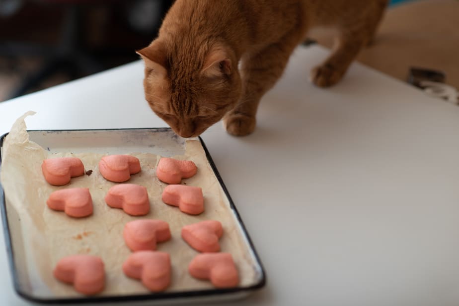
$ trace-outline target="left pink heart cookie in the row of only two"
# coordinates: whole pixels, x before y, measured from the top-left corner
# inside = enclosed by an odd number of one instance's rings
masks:
[[[132,251],[155,250],[156,243],[170,239],[169,224],[162,220],[134,220],[124,226],[123,237]]]

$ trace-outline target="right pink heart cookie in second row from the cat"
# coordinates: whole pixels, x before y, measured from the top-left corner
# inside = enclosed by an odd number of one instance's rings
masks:
[[[187,185],[168,185],[162,192],[162,201],[190,215],[199,215],[204,211],[204,198],[200,187]]]

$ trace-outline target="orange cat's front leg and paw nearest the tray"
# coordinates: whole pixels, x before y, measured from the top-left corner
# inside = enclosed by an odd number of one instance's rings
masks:
[[[299,33],[295,33],[261,52],[250,53],[242,58],[242,96],[236,107],[223,120],[229,134],[244,136],[253,132],[261,97],[282,75],[290,55],[300,40]]]

